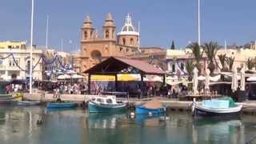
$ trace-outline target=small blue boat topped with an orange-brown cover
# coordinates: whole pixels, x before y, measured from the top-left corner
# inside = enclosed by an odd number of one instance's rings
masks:
[[[135,106],[136,114],[162,114],[166,111],[166,106],[162,105],[157,98],[143,105]]]

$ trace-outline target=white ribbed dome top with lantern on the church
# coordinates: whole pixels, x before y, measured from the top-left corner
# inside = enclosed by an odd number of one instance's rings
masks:
[[[138,32],[134,29],[129,14],[126,16],[125,26],[122,26],[122,30],[118,33],[118,35],[139,35]]]

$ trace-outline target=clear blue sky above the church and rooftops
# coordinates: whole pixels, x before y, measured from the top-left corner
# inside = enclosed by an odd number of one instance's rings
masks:
[[[1,0],[0,40],[30,42],[31,0]],[[256,34],[255,0],[201,0],[202,42],[217,41],[238,45],[254,40]],[[197,0],[35,0],[34,44],[45,46],[46,15],[50,15],[49,45],[72,51],[80,46],[80,27],[90,14],[100,32],[106,14],[114,18],[117,31],[130,13],[134,25],[141,23],[142,46],[176,47],[197,41]],[[72,40],[70,44],[69,41]]]

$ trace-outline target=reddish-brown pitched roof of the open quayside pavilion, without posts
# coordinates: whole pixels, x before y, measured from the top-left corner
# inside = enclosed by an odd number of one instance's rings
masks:
[[[130,58],[119,58],[119,57],[110,57],[105,61],[98,63],[97,65],[91,67],[89,70],[86,70],[84,73],[90,74],[117,74],[121,70],[124,70],[128,67],[134,67],[137,70],[140,70],[143,74],[156,74],[162,75],[166,74],[165,71],[150,65],[149,63],[130,59]]]

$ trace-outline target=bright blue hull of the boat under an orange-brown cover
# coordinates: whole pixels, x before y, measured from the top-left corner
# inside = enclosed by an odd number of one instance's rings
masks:
[[[162,114],[164,113],[165,107],[161,107],[158,109],[150,109],[143,106],[135,106],[136,114]]]

